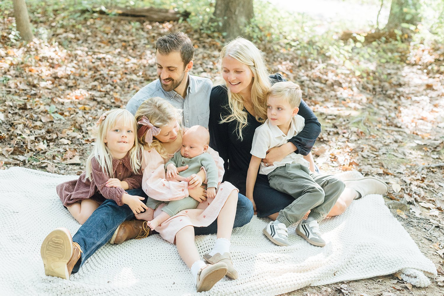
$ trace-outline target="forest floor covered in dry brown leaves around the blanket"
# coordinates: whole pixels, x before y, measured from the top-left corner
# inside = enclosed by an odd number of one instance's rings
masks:
[[[184,31],[195,44],[192,75],[216,82],[223,45],[183,23],[138,23],[110,16],[40,16],[38,39],[13,43],[14,19],[0,19],[0,169],[22,166],[80,174],[95,122],[125,107],[156,79],[155,40]],[[438,277],[427,288],[396,275],[305,287],[284,295],[444,295],[444,47],[408,51],[364,79],[342,65],[301,57],[280,44],[258,44],[270,72],[299,83],[322,123],[313,148],[324,172],[358,170],[389,185],[387,206]],[[379,77],[379,78],[378,78]],[[396,250],[393,250],[396,252]]]

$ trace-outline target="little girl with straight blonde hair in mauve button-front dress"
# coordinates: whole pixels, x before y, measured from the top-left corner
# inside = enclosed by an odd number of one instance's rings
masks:
[[[94,149],[87,159],[86,171],[78,180],[57,185],[57,194],[71,215],[83,224],[105,199],[127,204],[136,213],[146,205],[139,197],[125,192],[141,187],[142,146],[137,137],[137,122],[125,109],[105,112]]]

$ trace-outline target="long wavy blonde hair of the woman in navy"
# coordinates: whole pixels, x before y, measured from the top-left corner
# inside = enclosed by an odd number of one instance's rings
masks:
[[[221,51],[219,66],[222,71],[222,59],[230,56],[240,63],[246,64],[253,72],[253,85],[251,87],[251,103],[256,113],[256,120],[265,122],[267,118],[266,93],[271,87],[269,73],[261,51],[251,41],[238,37],[227,43]],[[231,114],[222,118],[221,122],[237,122],[238,137],[242,140],[242,130],[247,126],[248,114],[244,111],[244,98],[239,93],[233,94],[225,82],[228,92],[228,104]]]

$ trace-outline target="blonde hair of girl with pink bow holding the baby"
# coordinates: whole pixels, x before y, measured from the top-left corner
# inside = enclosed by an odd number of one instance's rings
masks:
[[[135,118],[139,121],[143,116],[146,116],[151,124],[158,128],[168,126],[172,120],[177,120],[179,123],[179,132],[182,132],[181,112],[182,110],[176,109],[166,100],[154,97],[147,99],[142,105],[140,105],[135,114]],[[145,135],[142,135],[139,138],[139,141],[146,147],[146,149],[154,148],[164,159],[168,158],[168,153],[163,147],[162,142],[159,142],[157,138],[153,137],[153,142],[147,143],[145,142]]]

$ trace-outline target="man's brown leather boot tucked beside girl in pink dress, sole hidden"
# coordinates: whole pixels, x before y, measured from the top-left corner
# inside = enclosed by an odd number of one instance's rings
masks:
[[[150,234],[151,229],[148,227],[147,221],[137,219],[124,221],[115,230],[111,237],[110,244],[118,245],[133,238],[148,237]]]

